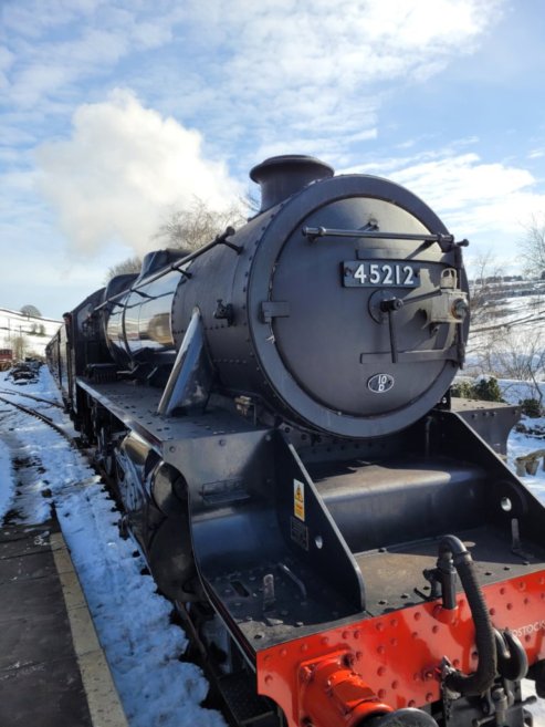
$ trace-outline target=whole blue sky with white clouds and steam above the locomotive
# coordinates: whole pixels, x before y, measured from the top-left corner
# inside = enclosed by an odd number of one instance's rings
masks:
[[[266,156],[419,194],[469,255],[545,215],[541,0],[2,0],[0,305],[59,316]]]

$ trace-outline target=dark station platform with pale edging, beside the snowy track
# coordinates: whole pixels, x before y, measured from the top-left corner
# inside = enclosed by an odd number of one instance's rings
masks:
[[[0,725],[127,727],[55,519],[0,528]]]

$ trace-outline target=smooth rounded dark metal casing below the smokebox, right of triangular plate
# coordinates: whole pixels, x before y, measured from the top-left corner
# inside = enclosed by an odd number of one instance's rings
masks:
[[[421,540],[488,520],[490,491],[478,467],[446,457],[310,465],[354,551]]]

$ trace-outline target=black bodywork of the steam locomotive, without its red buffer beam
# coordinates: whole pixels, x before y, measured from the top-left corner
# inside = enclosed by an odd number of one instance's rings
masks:
[[[446,533],[474,543],[481,585],[545,562],[544,508],[491,449],[512,413],[463,409],[475,434],[449,411],[469,326],[452,312],[461,243],[406,189],[331,174],[266,160],[265,211],[179,262],[156,256],[66,329],[78,366],[98,364],[77,380],[80,413],[99,442],[116,433],[127,521],[159,586],[211,605],[250,664],[428,600]],[[113,357],[87,345],[102,320]],[[112,365],[140,385],[101,383]],[[441,727],[483,715],[470,699],[447,721],[436,707]],[[505,724],[521,716],[518,699]]]

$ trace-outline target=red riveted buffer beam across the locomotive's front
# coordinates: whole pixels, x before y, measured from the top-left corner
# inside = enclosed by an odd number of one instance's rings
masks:
[[[520,637],[528,663],[545,658],[545,570],[486,585],[483,593],[493,625]],[[316,720],[313,704],[317,709],[324,690],[335,703],[338,694],[331,678],[322,683],[313,672],[322,673],[336,660],[338,669],[349,667],[352,677],[345,675],[345,682],[352,679],[352,687],[360,688],[359,702],[352,698],[336,706],[336,724],[346,727],[363,702],[385,712],[440,699],[443,656],[464,673],[475,671],[474,627],[463,595],[454,611],[433,601],[265,648],[258,653],[258,692],[280,705],[290,727],[325,727],[319,712]],[[335,727],[331,715],[327,719],[327,727]]]

